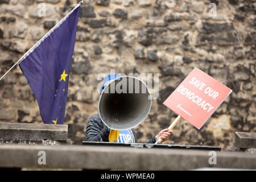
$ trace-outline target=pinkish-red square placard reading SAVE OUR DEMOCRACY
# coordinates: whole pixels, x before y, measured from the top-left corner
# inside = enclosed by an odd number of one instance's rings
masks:
[[[230,93],[230,88],[194,68],[163,104],[200,129]]]

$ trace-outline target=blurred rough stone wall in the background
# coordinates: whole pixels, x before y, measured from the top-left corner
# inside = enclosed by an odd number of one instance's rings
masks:
[[[46,5],[40,17],[39,3]],[[208,14],[216,3],[217,16]],[[0,75],[3,75],[77,1],[0,0]],[[181,121],[166,143],[233,145],[234,131],[255,132],[255,0],[86,0],[81,6],[69,77],[65,124],[69,138],[85,138],[97,113],[100,73],[159,73],[159,97],[135,127],[140,142],[168,127],[175,114],[162,103],[200,68],[233,93],[199,131]],[[42,123],[38,104],[16,67],[0,82],[0,122]]]

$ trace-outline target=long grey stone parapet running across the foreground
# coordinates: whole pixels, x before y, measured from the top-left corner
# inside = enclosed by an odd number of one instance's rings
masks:
[[[39,165],[39,151],[46,165]],[[0,146],[0,167],[188,170],[204,167],[256,169],[256,155],[216,152],[210,165],[209,151],[110,146]]]

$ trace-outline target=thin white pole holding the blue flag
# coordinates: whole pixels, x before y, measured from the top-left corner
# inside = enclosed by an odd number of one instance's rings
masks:
[[[71,10],[67,15],[64,16],[63,19],[60,20],[59,23],[57,23],[54,27],[51,28],[51,30],[49,30],[46,35],[44,35],[33,47],[31,47],[26,53],[24,53],[24,55],[22,57],[20,57],[20,59],[0,78],[0,81],[3,79],[3,77],[5,77],[7,75],[7,73],[9,73],[17,64],[21,63],[22,60],[24,60],[28,55],[30,55],[30,53],[32,51],[34,51],[34,49],[36,47],[38,47],[44,39],[46,39],[57,27],[60,26],[61,23],[64,22],[64,20],[66,20],[68,18],[68,16],[73,13],[73,11],[79,7],[82,3],[84,3],[84,1],[80,1],[76,7],[73,8],[73,10]]]

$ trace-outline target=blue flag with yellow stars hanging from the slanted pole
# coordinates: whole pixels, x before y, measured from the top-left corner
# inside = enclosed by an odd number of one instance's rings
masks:
[[[19,67],[46,124],[63,124],[80,3],[22,57]]]

